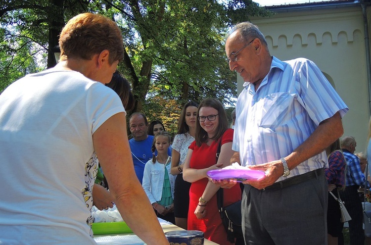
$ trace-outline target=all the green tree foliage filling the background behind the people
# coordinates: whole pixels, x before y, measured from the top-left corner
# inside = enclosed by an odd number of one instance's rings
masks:
[[[132,84],[133,111],[154,115],[157,108],[163,121],[189,100],[232,104],[236,77],[225,36],[251,15],[270,14],[252,0],[0,0],[0,91],[54,65],[50,50],[61,28],[86,11],[119,25],[126,53],[118,69]]]

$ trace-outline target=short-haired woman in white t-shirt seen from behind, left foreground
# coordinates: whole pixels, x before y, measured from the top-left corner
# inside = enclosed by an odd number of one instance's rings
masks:
[[[115,22],[84,13],[63,28],[60,62],[0,95],[0,244],[94,245],[96,163],[118,210],[147,244],[168,244],[134,172],[125,109],[104,86],[124,56]],[[96,81],[96,82],[95,82]]]

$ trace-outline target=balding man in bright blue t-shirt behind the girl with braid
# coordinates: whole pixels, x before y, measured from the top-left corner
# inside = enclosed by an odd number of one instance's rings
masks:
[[[139,182],[143,181],[145,163],[152,159],[153,135],[148,135],[148,121],[144,114],[135,112],[129,118],[130,132],[133,138],[129,140],[132,150],[134,169]]]

